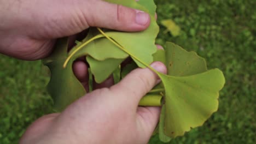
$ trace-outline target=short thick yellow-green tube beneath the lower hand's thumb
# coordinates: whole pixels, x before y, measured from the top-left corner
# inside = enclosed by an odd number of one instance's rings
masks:
[[[162,106],[162,95],[145,95],[140,101],[139,106]]]

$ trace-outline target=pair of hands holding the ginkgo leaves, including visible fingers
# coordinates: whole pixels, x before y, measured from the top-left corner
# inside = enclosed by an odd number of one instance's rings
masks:
[[[0,53],[30,61],[48,56],[55,39],[74,39],[90,26],[133,32],[150,23],[143,11],[100,0],[0,0],[0,20]],[[152,67],[166,73],[160,62]],[[73,64],[85,88],[87,69],[84,61]],[[20,143],[147,143],[160,108],[138,107],[138,102],[159,77],[146,68],[133,70],[117,85],[111,81],[110,77],[63,112],[39,118]]]

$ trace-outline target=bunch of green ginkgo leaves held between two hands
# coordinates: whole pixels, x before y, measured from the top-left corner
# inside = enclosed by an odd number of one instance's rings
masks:
[[[165,50],[156,49],[159,27],[154,19],[156,6],[153,0],[107,2],[146,11],[151,17],[150,26],[143,32],[133,33],[90,28],[86,38],[77,41],[69,52],[68,38],[58,39],[54,52],[43,60],[51,71],[48,91],[54,100],[55,110],[62,111],[86,94],[72,70],[75,59],[86,56],[90,73],[97,83],[112,74],[118,82],[138,67],[149,68],[160,77],[162,82],[139,105],[162,105],[159,125],[155,130],[161,141],[168,142],[202,125],[218,109],[219,91],[225,83],[222,71],[207,70],[205,59],[173,43],[167,42]],[[120,69],[120,64],[129,57],[133,62]],[[166,64],[167,75],[149,66],[154,61]]]

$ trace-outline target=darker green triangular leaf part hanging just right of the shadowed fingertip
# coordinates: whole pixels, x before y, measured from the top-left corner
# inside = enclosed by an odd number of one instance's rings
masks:
[[[96,59],[87,56],[87,62],[90,65],[91,73],[97,83],[102,83],[106,80],[115,69],[124,61],[124,59],[109,58],[104,61],[97,61]]]

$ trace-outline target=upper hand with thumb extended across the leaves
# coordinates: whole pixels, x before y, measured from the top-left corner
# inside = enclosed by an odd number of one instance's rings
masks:
[[[147,13],[100,0],[0,1],[0,53],[25,60],[49,55],[54,39],[90,26],[142,31]]]

